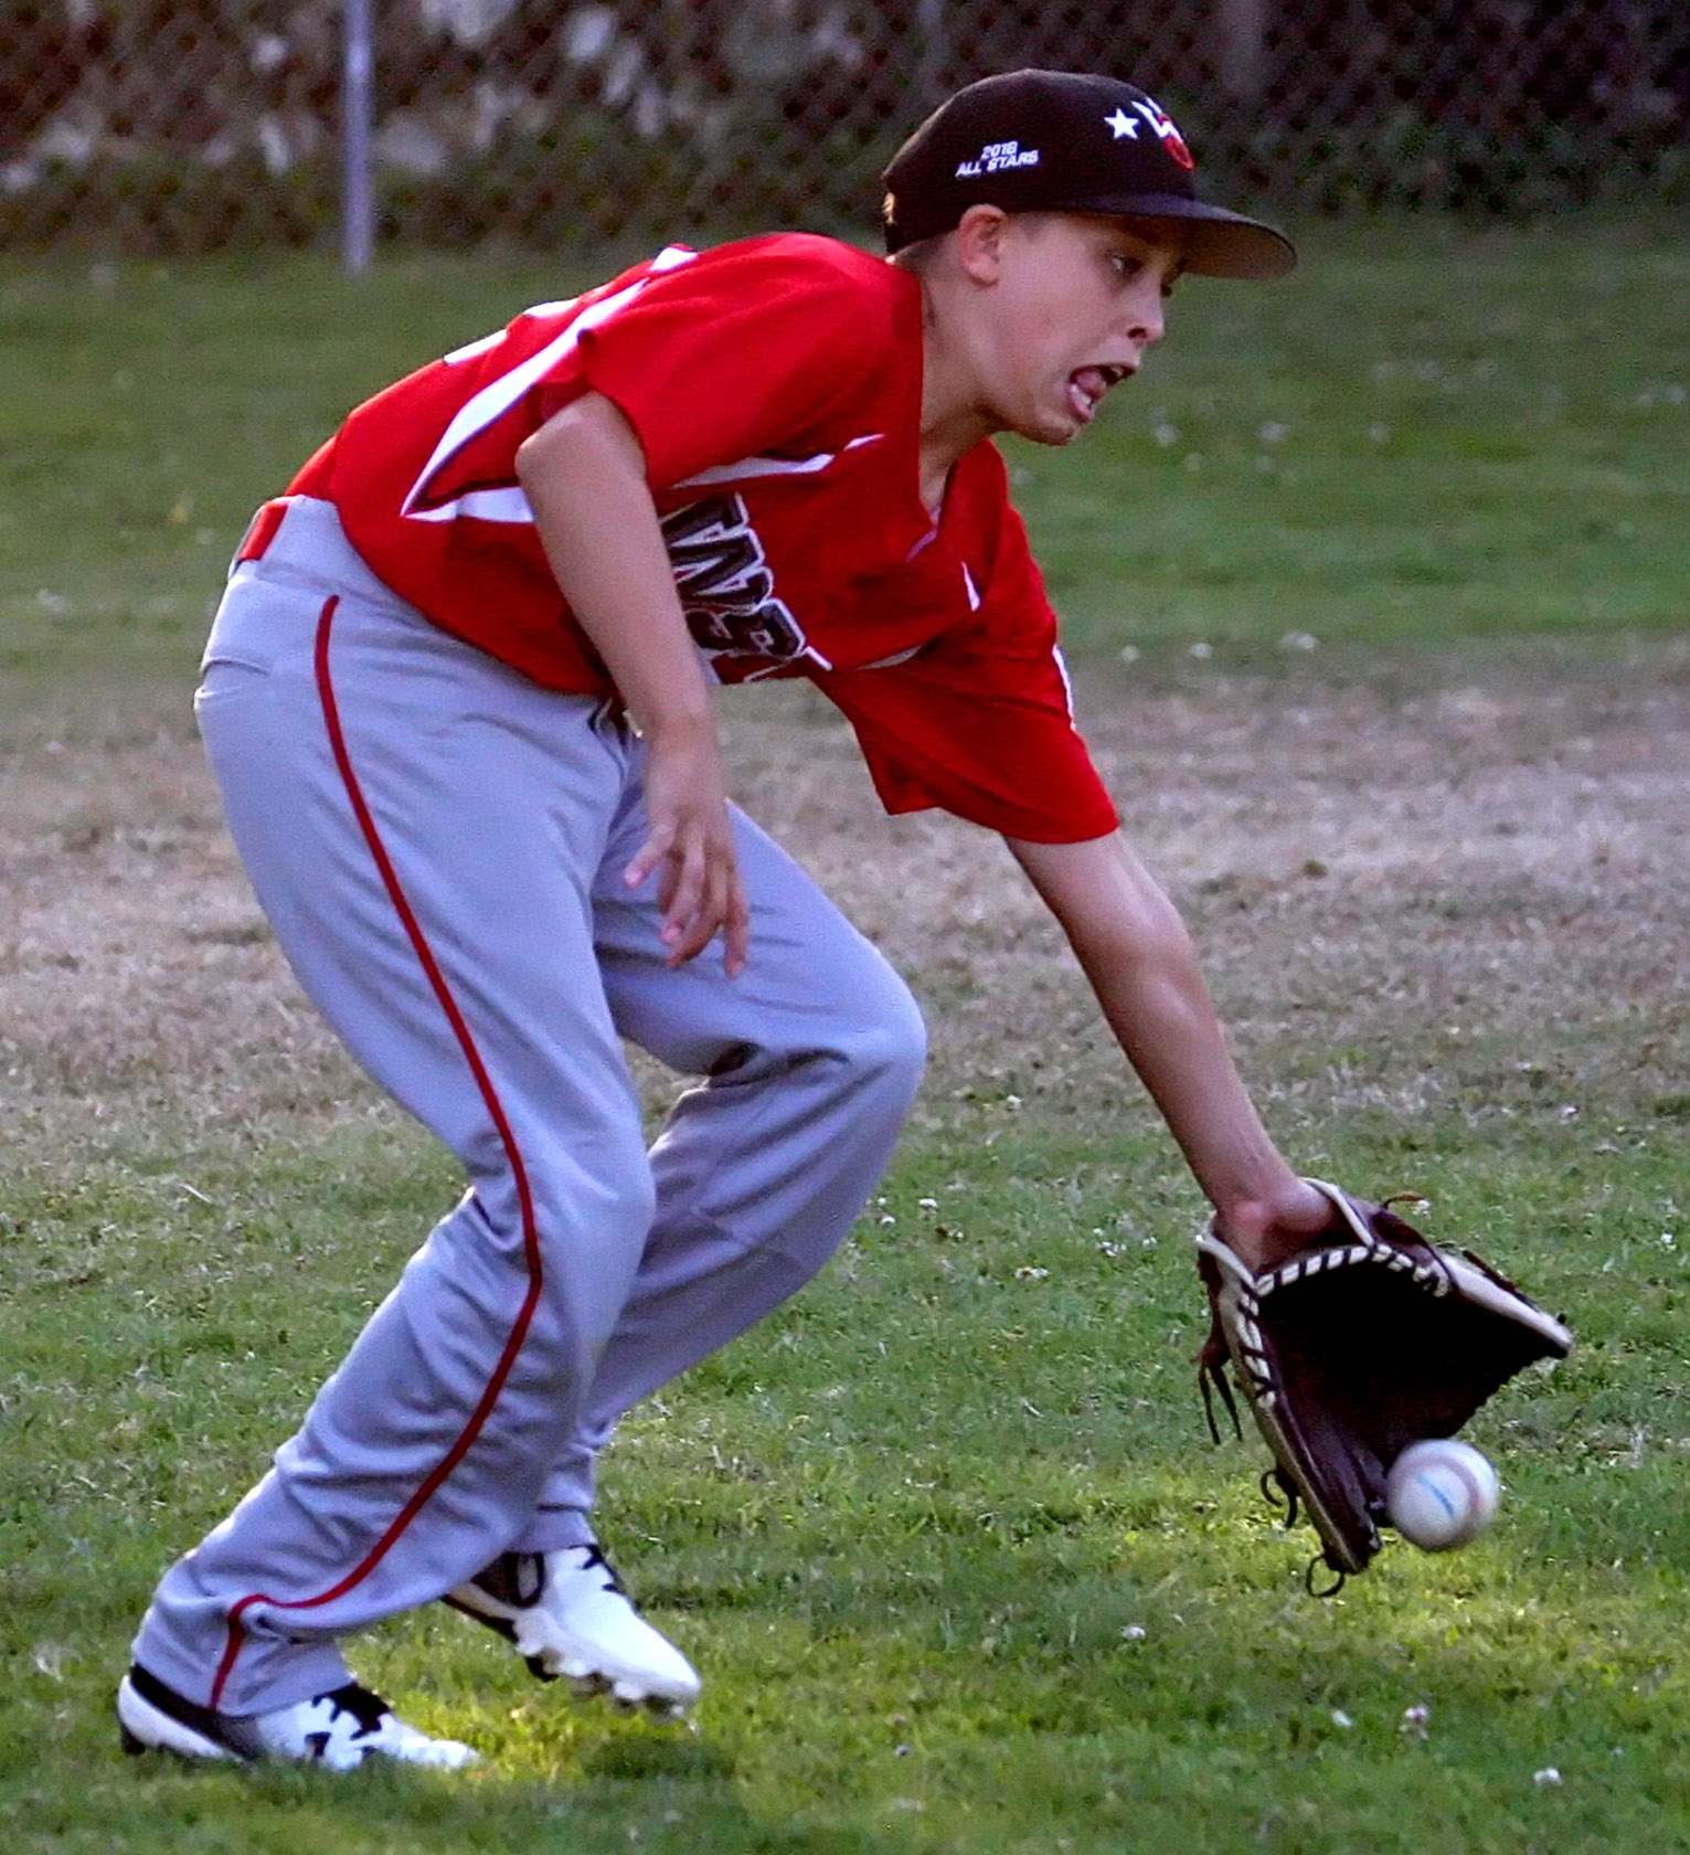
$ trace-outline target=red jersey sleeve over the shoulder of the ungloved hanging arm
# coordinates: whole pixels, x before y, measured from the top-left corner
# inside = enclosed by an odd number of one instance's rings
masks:
[[[558,399],[588,388],[612,401],[653,490],[740,458],[824,451],[829,416],[892,354],[902,280],[879,269],[803,236],[711,252],[586,330],[579,386]]]

